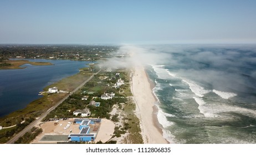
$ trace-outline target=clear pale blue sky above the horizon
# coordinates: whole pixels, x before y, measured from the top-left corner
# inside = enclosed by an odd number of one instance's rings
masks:
[[[0,43],[256,43],[256,1],[1,0]]]

